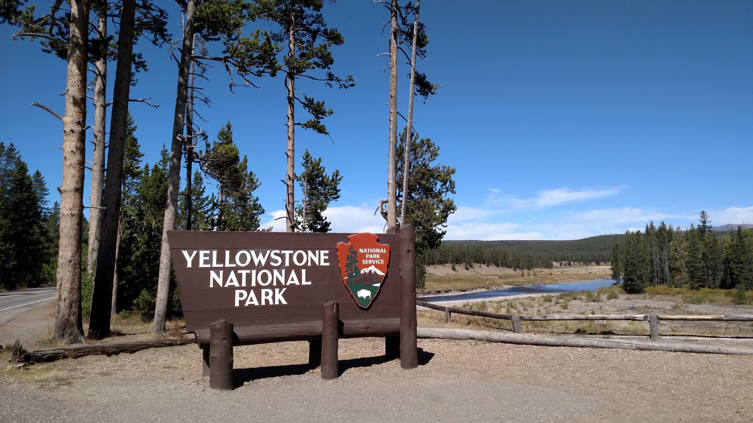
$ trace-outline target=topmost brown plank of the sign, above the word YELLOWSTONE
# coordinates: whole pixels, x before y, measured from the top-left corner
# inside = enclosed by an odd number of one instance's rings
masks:
[[[269,248],[308,249],[334,248],[338,242],[348,242],[352,233],[279,233],[279,232],[218,232],[170,230],[167,239],[170,248],[228,249]],[[379,233],[379,242],[391,248],[398,247],[398,235]]]

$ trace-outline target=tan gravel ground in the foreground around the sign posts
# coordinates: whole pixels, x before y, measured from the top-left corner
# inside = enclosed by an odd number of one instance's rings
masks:
[[[0,420],[753,421],[751,357],[420,339],[401,370],[383,340],[345,339],[325,382],[307,348],[235,348],[231,392],[199,377],[196,345],[0,373]]]

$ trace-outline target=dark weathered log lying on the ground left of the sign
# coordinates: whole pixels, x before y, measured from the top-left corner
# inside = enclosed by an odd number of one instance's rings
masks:
[[[26,351],[26,349],[23,349],[21,346],[21,343],[16,340],[16,343],[13,346],[11,360],[9,362],[14,364],[48,363],[50,361],[62,360],[63,358],[81,358],[87,355],[111,356],[121,353],[133,354],[136,351],[142,351],[148,348],[172,347],[177,345],[187,345],[194,342],[196,342],[194,337],[184,337],[178,339],[153,339],[149,341],[122,343],[66,345]]]

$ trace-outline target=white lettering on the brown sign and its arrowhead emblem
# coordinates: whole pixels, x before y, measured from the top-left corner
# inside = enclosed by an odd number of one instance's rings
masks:
[[[380,252],[386,252],[383,248],[364,250],[369,250],[367,257],[373,259],[363,260],[364,263],[384,263],[379,258]],[[287,304],[283,294],[288,288],[271,287],[312,285],[307,268],[330,266],[327,250],[240,250],[235,254],[230,250],[181,250],[181,253],[187,268],[212,268],[209,288],[233,288],[236,307]],[[248,266],[276,269],[241,269]]]

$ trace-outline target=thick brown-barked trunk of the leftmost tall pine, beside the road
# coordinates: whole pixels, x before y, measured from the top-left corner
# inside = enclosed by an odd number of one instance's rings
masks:
[[[87,25],[89,2],[72,0],[69,26],[66,113],[62,118],[62,184],[54,338],[81,342],[81,218],[87,119]]]

